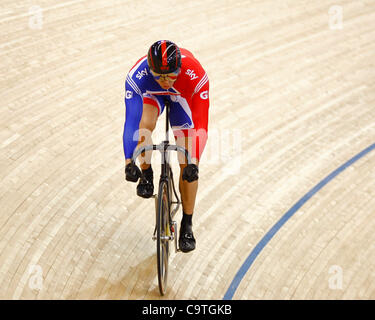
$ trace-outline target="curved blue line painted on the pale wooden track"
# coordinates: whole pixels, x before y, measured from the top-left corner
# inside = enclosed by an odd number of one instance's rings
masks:
[[[263,248],[267,245],[267,243],[272,239],[272,237],[280,230],[280,228],[291,218],[299,208],[301,208],[308,200],[311,199],[320,189],[322,189],[328,182],[333,180],[337,175],[343,172],[346,168],[351,166],[354,162],[364,157],[370,151],[375,149],[375,143],[358,153],[356,156],[351,158],[349,161],[344,163],[341,167],[337,168],[335,171],[330,173],[327,177],[325,177],[322,181],[320,181],[314,188],[312,188],[309,192],[307,192],[298,202],[296,202],[293,207],[291,207],[282,217],[281,219],[276,222],[276,224],[266,233],[266,235],[259,241],[259,243],[255,246],[253,251],[249,254],[246,258],[245,262],[242,264],[241,268],[238,270],[237,274],[235,275],[232,283],[230,284],[227,292],[224,295],[223,300],[231,300],[240,285],[243,277],[250,269],[251,265],[259,255],[259,253],[263,250]]]

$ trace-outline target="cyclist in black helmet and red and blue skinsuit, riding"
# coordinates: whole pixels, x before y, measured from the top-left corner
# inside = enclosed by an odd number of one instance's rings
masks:
[[[151,45],[148,54],[130,69],[125,82],[126,120],[123,132],[125,176],[136,182],[140,170],[131,157],[137,145],[152,144],[151,133],[165,100],[170,103],[170,124],[176,144],[186,148],[193,164],[179,155],[179,189],[183,207],[179,247],[183,252],[195,249],[192,215],[198,190],[199,159],[207,141],[209,81],[206,72],[193,56],[169,40]],[[154,192],[150,152],[140,164],[144,179],[137,185],[137,195],[150,198]]]

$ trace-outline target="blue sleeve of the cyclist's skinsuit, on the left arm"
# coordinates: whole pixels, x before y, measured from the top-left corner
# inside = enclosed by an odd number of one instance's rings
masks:
[[[125,124],[122,137],[125,159],[130,159],[138,144],[139,122],[143,112],[143,98],[128,82],[125,83]]]

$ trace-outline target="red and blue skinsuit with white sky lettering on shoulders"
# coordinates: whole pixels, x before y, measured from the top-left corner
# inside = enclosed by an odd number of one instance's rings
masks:
[[[160,115],[164,109],[163,99],[170,101],[170,124],[175,137],[191,137],[191,157],[200,159],[207,141],[209,81],[193,54],[183,48],[180,50],[181,72],[171,89],[165,90],[155,81],[150,73],[147,56],[138,60],[127,75],[123,133],[126,159],[132,157],[138,144],[143,104],[155,106]]]

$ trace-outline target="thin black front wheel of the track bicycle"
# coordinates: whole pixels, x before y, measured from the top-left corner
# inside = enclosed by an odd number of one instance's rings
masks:
[[[161,295],[164,295],[167,291],[169,240],[171,239],[169,210],[169,187],[166,181],[161,181],[159,185],[158,212],[156,221],[158,281]]]

